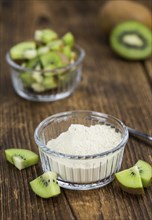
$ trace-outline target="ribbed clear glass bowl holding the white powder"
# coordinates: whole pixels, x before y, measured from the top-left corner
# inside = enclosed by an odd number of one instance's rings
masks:
[[[121,140],[112,150],[93,155],[69,155],[52,151],[46,146],[50,139],[57,138],[71,124],[91,126],[104,124],[120,132]],[[107,185],[114,179],[122,163],[123,152],[128,141],[128,129],[117,118],[92,111],[70,111],[52,115],[43,120],[35,130],[44,172],[58,174],[59,185],[67,189],[88,190]]]

